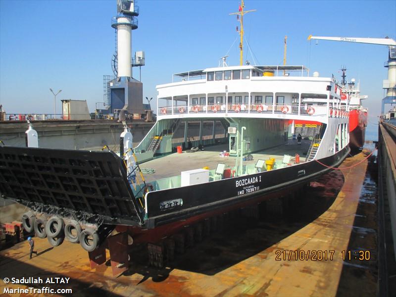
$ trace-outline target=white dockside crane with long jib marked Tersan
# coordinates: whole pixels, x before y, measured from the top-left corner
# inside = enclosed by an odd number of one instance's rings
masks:
[[[383,89],[387,90],[387,96],[382,99],[381,115],[384,114],[385,104],[396,104],[396,41],[391,38],[359,38],[359,37],[324,37],[324,36],[308,36],[308,40],[330,40],[353,43],[365,43],[372,45],[388,46],[389,55],[388,62],[385,67],[388,68],[388,79],[383,81]]]

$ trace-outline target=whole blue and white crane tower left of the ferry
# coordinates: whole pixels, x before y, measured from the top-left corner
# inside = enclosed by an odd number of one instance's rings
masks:
[[[145,115],[143,84],[132,77],[133,66],[143,66],[144,52],[138,51],[132,58],[132,30],[138,28],[139,6],[136,0],[117,0],[117,15],[112,18],[115,29],[116,50],[112,59],[113,80],[106,82],[108,99],[105,105],[116,118]]]

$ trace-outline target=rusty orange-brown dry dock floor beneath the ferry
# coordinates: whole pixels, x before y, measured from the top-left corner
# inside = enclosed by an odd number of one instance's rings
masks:
[[[347,158],[341,167],[356,166],[317,180],[310,193],[289,203],[282,218],[233,218],[225,230],[163,269],[148,267],[145,251],[137,250],[129,270],[116,278],[109,265],[91,270],[87,252],[79,245],[50,247],[46,239],[36,239],[39,254],[29,259],[28,243],[19,243],[0,251],[0,295],[4,288],[45,286],[6,285],[5,277],[67,277],[68,284],[48,287],[70,288],[75,296],[374,296],[377,247],[370,230],[375,226],[354,225],[359,217],[375,221],[372,201],[357,213],[359,203],[367,202],[361,198],[367,154]],[[365,243],[359,242],[364,237]],[[344,250],[351,250],[353,257],[358,249],[370,250],[370,259],[343,260]]]

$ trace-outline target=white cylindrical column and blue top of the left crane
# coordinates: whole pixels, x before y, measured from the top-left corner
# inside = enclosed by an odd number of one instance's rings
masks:
[[[132,30],[138,28],[139,7],[134,0],[117,0],[118,15],[111,27],[117,30],[117,77],[132,77]]]

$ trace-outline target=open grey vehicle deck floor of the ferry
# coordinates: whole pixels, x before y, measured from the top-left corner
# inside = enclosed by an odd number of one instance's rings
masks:
[[[311,144],[311,140],[301,141],[301,145],[297,145],[297,140],[289,140],[287,144],[277,146],[274,148],[267,148],[255,153],[252,153],[253,160],[245,161],[244,165],[255,164],[258,159],[267,160],[275,158],[275,161],[282,161],[285,154],[292,157],[298,153],[300,155],[300,162],[305,162],[306,151]],[[216,169],[217,163],[225,163],[226,167],[235,167],[236,157],[220,157],[222,150],[228,150],[228,143],[205,147],[203,151],[196,151],[192,153],[172,153],[163,157],[158,157],[140,165],[142,169],[152,168],[154,173],[145,174],[145,180],[152,182],[155,180],[178,176],[181,171],[193,170],[208,166],[209,169]],[[294,162],[292,162],[294,163]]]

